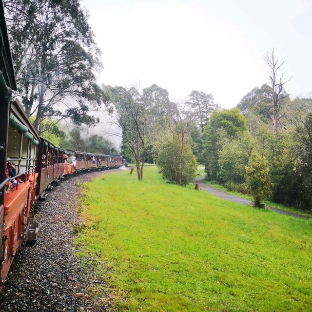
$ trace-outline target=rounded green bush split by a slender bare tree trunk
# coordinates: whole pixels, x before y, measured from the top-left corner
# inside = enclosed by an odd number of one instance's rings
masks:
[[[156,164],[161,174],[169,181],[178,183],[180,145],[177,139],[166,137],[159,146]],[[182,154],[182,185],[187,185],[195,178],[197,170],[196,158],[189,145],[185,145]]]

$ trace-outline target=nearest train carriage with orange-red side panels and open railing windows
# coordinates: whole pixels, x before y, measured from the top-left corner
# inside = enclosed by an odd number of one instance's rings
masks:
[[[35,230],[30,216],[37,185],[39,136],[18,101],[11,102],[16,81],[0,5],[0,287],[20,243]],[[10,169],[10,170],[9,170]],[[35,230],[36,231],[36,230]]]

